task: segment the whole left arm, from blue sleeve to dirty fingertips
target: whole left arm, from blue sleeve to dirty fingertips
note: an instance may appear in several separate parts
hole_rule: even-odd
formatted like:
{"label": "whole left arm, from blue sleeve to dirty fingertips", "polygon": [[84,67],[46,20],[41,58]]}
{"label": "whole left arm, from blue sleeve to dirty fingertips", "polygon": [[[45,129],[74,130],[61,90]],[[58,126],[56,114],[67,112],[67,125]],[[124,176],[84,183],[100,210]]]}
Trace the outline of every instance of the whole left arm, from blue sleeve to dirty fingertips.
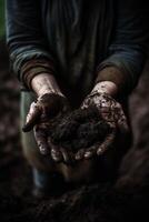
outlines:
{"label": "whole left arm, from blue sleeve to dirty fingertips", "polygon": [[54,79],[53,57],[46,50],[38,0],[7,0],[7,42],[14,73],[38,97],[23,131],[33,129],[41,154],[51,155],[56,162],[69,161],[67,151],[49,144],[49,120],[67,112],[69,104]]}

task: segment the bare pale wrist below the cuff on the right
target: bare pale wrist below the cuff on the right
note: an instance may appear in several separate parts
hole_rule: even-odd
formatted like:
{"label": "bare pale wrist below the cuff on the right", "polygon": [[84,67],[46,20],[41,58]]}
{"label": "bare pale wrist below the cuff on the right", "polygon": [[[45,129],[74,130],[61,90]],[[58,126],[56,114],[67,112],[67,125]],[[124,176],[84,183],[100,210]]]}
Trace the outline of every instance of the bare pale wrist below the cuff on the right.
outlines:
{"label": "bare pale wrist below the cuff on the right", "polygon": [[92,89],[92,92],[93,91],[98,91],[99,93],[107,93],[107,94],[110,94],[111,97],[116,97],[118,94],[118,87],[112,81],[101,81],[95,85],[95,88]]}

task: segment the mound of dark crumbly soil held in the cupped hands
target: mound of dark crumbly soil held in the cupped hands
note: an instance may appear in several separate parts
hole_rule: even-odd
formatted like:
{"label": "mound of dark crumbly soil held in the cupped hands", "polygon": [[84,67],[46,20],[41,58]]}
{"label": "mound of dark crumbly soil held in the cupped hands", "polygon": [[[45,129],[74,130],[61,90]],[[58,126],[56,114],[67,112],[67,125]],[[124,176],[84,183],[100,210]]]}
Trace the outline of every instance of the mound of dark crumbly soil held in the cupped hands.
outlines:
{"label": "mound of dark crumbly soil held in the cupped hands", "polygon": [[110,125],[102,119],[96,107],[78,109],[61,115],[50,123],[49,135],[53,144],[71,149],[100,145],[111,133]]}

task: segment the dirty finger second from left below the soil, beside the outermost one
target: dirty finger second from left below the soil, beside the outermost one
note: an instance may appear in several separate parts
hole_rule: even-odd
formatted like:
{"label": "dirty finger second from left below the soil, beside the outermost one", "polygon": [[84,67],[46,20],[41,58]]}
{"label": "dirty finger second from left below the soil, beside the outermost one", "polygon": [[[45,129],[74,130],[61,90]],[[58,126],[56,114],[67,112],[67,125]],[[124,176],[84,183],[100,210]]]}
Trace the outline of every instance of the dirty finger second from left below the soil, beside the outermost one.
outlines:
{"label": "dirty finger second from left below the soil, beside the outermost one", "polygon": [[63,158],[60,149],[51,142],[50,138],[48,140],[48,143],[51,150],[52,160],[57,163],[62,162]]}

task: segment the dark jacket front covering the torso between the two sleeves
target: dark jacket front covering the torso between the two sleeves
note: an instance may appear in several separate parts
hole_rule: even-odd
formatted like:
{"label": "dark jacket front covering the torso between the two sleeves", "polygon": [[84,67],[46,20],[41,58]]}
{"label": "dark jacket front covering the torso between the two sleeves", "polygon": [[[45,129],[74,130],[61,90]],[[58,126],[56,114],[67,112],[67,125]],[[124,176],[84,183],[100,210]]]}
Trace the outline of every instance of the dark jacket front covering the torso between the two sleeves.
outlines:
{"label": "dark jacket front covering the torso between the two sleeves", "polygon": [[112,7],[106,0],[42,1],[43,31],[67,88],[88,93],[97,65],[106,58]]}

